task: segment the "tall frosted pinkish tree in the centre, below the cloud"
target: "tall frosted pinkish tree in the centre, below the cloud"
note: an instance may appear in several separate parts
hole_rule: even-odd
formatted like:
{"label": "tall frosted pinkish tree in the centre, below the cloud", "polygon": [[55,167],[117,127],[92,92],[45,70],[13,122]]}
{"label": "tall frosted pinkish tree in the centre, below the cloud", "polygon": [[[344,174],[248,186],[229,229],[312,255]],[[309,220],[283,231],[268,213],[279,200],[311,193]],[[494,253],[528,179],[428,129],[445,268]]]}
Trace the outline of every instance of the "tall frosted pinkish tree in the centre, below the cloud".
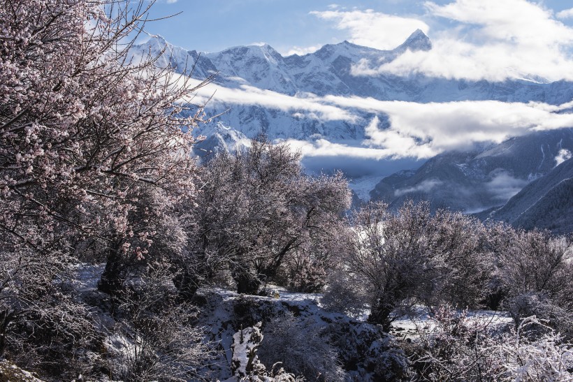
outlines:
{"label": "tall frosted pinkish tree in the centre, below the cloud", "polygon": [[291,256],[324,266],[326,243],[349,207],[342,175],[307,176],[299,154],[266,139],[212,159],[201,182],[195,267],[206,277],[228,269],[239,293],[256,293]]}

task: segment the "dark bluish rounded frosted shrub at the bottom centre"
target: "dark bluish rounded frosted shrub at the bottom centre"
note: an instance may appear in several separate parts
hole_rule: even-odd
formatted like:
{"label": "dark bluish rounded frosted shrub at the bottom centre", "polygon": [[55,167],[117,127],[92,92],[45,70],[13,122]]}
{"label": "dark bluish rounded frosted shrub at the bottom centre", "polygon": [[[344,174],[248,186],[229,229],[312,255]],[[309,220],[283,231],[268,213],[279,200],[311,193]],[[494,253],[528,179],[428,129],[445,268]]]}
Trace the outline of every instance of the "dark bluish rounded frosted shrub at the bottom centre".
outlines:
{"label": "dark bluish rounded frosted shrub at the bottom centre", "polygon": [[311,319],[300,319],[289,311],[273,318],[263,328],[259,359],[265,365],[280,365],[307,381],[344,381],[346,374],[338,352],[324,331]]}

